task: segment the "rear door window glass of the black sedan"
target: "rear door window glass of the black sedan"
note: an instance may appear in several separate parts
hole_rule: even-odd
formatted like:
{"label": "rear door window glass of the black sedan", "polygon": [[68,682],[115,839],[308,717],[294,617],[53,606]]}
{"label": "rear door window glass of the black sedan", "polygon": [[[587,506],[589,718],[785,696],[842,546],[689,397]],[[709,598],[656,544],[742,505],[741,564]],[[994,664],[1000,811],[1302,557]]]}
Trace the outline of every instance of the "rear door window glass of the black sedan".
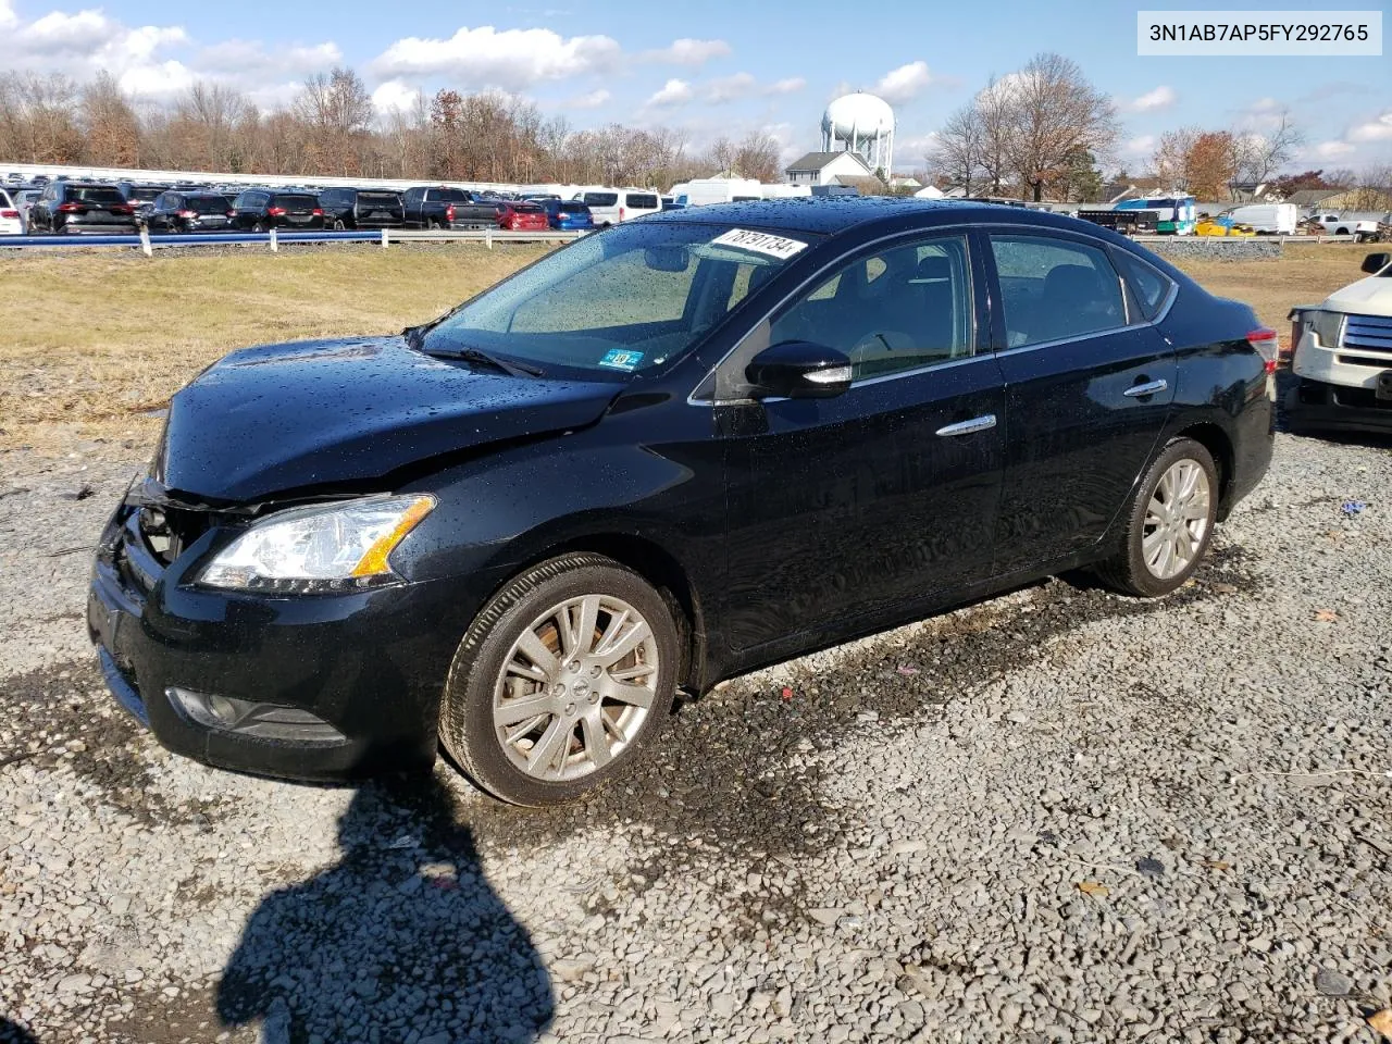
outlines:
{"label": "rear door window glass of the black sedan", "polygon": [[1043,235],[992,235],[1009,348],[1126,326],[1122,285],[1097,246]]}

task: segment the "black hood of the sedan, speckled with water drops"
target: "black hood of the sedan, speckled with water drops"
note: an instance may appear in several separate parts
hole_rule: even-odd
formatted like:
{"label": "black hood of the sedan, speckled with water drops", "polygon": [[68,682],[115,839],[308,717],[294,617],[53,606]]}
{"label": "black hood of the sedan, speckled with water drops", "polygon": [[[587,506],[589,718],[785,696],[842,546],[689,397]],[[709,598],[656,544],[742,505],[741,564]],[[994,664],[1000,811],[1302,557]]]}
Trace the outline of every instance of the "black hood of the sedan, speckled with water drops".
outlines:
{"label": "black hood of the sedan, speckled with water drops", "polygon": [[210,501],[370,482],[438,454],[583,427],[621,388],[480,373],[401,337],[248,348],[170,401],[153,476]]}

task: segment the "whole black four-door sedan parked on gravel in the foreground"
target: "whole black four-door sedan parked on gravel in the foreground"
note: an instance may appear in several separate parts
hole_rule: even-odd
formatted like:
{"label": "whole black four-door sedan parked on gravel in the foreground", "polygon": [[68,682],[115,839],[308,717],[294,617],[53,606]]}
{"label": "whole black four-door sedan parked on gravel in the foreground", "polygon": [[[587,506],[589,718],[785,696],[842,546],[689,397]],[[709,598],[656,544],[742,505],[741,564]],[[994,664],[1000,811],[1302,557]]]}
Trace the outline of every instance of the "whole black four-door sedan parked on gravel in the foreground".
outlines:
{"label": "whole black four-door sedan parked on gravel in the foreground", "polygon": [[1267,470],[1274,345],[1066,217],[651,216],[401,337],[200,373],[88,624],[175,752],[335,780],[438,741],[498,798],[567,800],[678,688],[1063,569],[1175,590]]}

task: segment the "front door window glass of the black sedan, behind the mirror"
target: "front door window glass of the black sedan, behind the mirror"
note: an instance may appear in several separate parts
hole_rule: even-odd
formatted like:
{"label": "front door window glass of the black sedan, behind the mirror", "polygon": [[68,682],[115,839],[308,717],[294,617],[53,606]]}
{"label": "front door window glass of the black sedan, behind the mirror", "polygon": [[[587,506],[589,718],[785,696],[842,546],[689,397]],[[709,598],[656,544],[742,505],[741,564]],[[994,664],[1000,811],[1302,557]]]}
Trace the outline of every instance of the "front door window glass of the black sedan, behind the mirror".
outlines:
{"label": "front door window glass of the black sedan, behind the mirror", "polygon": [[970,355],[966,239],[920,239],[841,266],[774,319],[770,344],[782,341],[845,352],[856,380]]}

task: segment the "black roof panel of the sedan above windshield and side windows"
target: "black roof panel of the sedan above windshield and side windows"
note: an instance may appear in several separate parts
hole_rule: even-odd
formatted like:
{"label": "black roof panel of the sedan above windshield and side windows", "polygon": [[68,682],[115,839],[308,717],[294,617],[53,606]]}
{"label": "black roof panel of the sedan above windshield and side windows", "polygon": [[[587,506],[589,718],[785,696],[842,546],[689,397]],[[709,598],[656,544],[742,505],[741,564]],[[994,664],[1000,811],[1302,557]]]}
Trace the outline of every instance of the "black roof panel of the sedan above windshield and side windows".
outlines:
{"label": "black roof panel of the sedan above windshield and side windows", "polygon": [[915,199],[913,196],[789,196],[749,203],[711,203],[647,214],[643,217],[643,224],[650,221],[700,221],[831,235],[857,226],[895,224],[895,219],[905,221],[906,230],[976,219],[980,221],[1008,220],[1012,224],[1038,224],[1054,228],[1084,227],[1089,235],[1107,234],[1107,230],[1091,223],[1044,210],[955,199]]}

